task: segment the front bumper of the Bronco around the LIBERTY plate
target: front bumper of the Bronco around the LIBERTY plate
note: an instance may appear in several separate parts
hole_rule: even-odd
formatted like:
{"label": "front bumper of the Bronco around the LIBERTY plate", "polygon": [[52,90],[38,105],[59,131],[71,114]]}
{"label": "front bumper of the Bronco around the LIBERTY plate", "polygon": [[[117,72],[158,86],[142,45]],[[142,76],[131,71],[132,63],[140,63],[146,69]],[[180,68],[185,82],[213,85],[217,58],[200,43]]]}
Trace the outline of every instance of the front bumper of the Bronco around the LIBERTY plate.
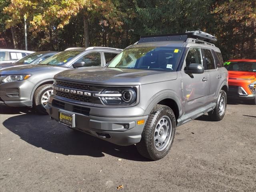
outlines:
{"label": "front bumper of the Bronco around the LIBERTY plate", "polygon": [[[65,109],[61,107],[52,106],[52,103],[48,102],[46,110],[52,119],[59,121],[59,111],[71,112],[71,108],[76,106],[72,103],[65,102]],[[71,108],[70,108],[71,107]],[[78,106],[76,106],[78,107]],[[83,106],[89,108],[90,111],[98,110],[99,114],[102,108],[95,108],[89,106]],[[105,108],[106,110],[106,108]],[[114,109],[109,109],[110,111],[115,111]],[[122,108],[120,110],[125,110]],[[146,120],[148,116],[134,116],[134,117],[115,117],[115,116],[95,116],[89,113],[88,115],[80,114],[77,112],[72,112],[75,114],[75,125],[73,129],[85,132],[92,136],[101,138],[108,142],[121,145],[129,146],[140,142],[141,134],[144,129]],[[110,114],[109,114],[110,115]],[[111,114],[113,115],[113,114]],[[120,116],[120,114],[118,114]],[[132,114],[131,114],[132,116]],[[137,124],[138,120],[144,120],[144,124]],[[124,128],[124,125],[129,124],[129,128]]]}

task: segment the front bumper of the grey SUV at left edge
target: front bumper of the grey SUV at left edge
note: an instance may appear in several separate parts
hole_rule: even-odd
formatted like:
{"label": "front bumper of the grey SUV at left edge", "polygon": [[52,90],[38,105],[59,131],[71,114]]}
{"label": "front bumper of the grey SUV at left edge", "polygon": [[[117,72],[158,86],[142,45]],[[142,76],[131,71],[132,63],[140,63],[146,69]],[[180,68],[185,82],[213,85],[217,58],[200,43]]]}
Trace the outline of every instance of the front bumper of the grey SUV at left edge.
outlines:
{"label": "front bumper of the grey SUV at left edge", "polygon": [[11,107],[32,107],[29,81],[14,81],[0,84],[0,102]]}

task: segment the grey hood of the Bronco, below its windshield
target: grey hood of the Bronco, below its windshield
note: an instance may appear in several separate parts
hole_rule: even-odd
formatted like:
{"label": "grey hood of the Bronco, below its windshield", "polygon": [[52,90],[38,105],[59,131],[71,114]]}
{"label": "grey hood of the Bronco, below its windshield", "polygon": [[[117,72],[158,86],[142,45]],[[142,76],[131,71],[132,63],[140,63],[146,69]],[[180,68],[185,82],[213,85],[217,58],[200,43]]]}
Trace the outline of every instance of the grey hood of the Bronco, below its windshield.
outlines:
{"label": "grey hood of the Bronco, below its windshield", "polygon": [[60,72],[54,78],[88,84],[139,85],[174,80],[177,78],[177,72],[120,68],[84,68]]}

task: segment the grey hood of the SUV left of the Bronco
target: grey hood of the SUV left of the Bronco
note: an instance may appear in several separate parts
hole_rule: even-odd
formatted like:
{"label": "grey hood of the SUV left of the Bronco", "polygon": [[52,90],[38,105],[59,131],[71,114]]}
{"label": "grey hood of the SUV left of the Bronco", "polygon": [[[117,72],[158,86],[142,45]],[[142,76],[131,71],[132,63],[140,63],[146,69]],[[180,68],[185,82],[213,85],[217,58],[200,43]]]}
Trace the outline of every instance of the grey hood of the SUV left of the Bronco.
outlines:
{"label": "grey hood of the SUV left of the Bronco", "polygon": [[0,75],[18,75],[18,74],[36,74],[47,71],[62,71],[67,68],[58,67],[58,66],[48,66],[48,65],[18,65],[9,68],[3,68],[0,70]]}

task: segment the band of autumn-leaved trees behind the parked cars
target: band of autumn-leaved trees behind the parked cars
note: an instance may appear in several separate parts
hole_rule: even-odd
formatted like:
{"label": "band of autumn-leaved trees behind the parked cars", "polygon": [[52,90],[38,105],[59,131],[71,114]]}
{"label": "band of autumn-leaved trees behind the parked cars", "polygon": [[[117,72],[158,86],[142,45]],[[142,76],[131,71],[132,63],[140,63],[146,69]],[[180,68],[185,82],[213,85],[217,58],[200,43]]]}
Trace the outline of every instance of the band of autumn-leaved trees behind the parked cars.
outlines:
{"label": "band of autumn-leaved trees behind the parked cars", "polygon": [[72,46],[125,48],[140,35],[203,30],[216,35],[224,59],[256,58],[252,0],[1,0],[0,36],[30,50]]}

